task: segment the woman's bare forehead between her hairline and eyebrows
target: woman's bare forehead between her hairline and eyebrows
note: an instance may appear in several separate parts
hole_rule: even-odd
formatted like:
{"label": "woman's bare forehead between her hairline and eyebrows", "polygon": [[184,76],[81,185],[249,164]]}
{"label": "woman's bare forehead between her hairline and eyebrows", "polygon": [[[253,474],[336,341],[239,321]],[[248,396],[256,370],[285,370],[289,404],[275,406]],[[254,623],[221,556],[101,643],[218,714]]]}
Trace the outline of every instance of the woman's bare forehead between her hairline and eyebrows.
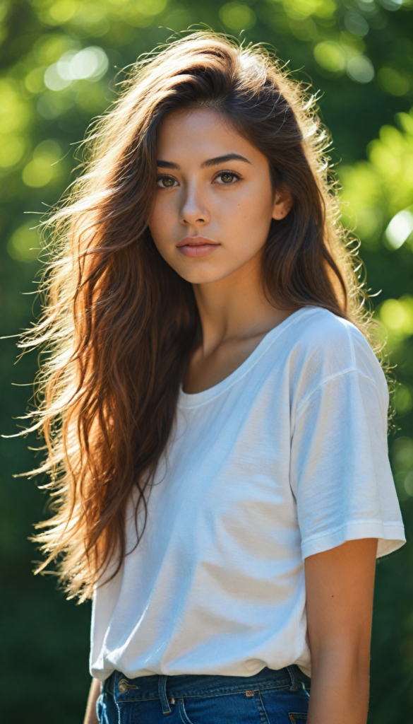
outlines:
{"label": "woman's bare forehead between her hairline and eyebrows", "polygon": [[259,156],[265,158],[214,109],[172,111],[163,119],[158,137],[158,158],[176,161],[179,156],[202,163],[227,153],[239,153],[251,163]]}

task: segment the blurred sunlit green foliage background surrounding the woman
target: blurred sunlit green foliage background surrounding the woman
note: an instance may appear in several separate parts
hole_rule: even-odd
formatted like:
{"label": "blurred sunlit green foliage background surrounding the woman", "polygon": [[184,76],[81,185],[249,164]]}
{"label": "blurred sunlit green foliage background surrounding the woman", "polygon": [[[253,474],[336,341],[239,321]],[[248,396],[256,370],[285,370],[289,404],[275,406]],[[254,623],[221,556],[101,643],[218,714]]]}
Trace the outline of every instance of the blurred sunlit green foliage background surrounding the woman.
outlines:
{"label": "blurred sunlit green foliage background surrounding the woman", "polygon": [[[115,96],[116,74],[171,35],[205,23],[270,43],[297,77],[321,90],[320,111],[343,185],[344,221],[357,227],[367,282],[396,374],[389,441],[410,538],[413,527],[413,0],[0,1],[1,334],[33,319],[40,268],[35,226],[59,198],[90,119]],[[81,52],[83,51],[83,52]],[[118,79],[122,79],[122,72]],[[401,212],[401,213],[400,213]],[[390,227],[388,226],[390,224]],[[35,310],[34,310],[35,311]],[[0,432],[27,407],[35,355],[17,366],[0,343]],[[32,443],[33,444],[33,443]],[[90,609],[66,602],[54,578],[31,574],[27,537],[44,514],[25,439],[1,440],[1,673],[4,721],[75,724],[89,686]],[[378,564],[370,724],[413,710],[412,547]]]}

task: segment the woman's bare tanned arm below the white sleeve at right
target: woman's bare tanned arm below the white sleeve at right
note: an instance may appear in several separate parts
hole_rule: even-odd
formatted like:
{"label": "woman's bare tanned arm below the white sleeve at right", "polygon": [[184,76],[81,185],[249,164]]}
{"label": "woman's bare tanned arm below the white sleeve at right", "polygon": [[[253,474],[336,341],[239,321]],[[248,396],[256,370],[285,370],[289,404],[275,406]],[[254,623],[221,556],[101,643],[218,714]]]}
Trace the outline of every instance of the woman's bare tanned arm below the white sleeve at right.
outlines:
{"label": "woman's bare tanned arm below the white sleeve at right", "polygon": [[366,724],[377,540],[305,560],[311,695],[307,724]]}

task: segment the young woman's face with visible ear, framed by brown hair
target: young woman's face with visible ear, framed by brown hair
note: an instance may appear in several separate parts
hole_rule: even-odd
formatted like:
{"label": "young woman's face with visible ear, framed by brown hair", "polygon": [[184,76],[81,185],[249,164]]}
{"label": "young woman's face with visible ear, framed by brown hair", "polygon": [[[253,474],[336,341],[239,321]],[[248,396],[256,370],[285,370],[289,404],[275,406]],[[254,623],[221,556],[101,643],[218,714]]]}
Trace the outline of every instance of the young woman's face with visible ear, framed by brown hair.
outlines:
{"label": "young woman's face with visible ear, framed by brown hair", "polygon": [[260,255],[271,219],[291,205],[291,193],[274,195],[263,153],[216,111],[164,119],[149,228],[161,256],[188,282],[216,282]]}

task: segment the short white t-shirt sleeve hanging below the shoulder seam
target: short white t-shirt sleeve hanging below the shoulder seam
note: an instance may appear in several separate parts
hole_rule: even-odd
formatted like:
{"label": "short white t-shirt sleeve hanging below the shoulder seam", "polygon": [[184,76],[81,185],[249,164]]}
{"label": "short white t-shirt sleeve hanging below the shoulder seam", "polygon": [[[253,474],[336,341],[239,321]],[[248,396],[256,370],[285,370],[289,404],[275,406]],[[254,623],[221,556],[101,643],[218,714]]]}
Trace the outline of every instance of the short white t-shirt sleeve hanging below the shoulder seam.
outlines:
{"label": "short white t-shirt sleeve hanging below the shoulder seam", "polygon": [[290,479],[303,559],[354,539],[377,538],[378,557],[404,544],[387,407],[384,376],[377,384],[357,369],[323,382],[298,405]]}

